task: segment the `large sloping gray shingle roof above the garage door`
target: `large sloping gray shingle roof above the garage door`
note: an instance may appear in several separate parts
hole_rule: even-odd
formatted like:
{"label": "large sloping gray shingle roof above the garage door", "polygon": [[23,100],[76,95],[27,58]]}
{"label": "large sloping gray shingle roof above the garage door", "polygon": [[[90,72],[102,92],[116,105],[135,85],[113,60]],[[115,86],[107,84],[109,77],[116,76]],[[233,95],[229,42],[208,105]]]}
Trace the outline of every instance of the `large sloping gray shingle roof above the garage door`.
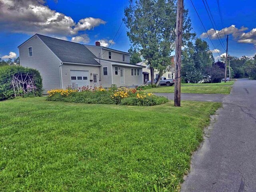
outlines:
{"label": "large sloping gray shingle roof above the garage door", "polygon": [[56,39],[36,34],[56,56],[63,62],[100,65],[88,48],[80,43]]}

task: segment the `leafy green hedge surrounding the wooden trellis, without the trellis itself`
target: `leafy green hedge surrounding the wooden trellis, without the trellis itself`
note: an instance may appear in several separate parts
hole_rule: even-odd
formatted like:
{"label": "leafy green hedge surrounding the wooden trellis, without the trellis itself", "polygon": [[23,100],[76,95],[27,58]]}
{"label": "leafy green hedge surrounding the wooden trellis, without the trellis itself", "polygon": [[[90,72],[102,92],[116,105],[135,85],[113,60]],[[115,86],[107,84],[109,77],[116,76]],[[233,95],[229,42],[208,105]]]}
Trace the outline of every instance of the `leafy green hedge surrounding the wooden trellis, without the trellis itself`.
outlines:
{"label": "leafy green hedge surrounding the wooden trellis, without the trellis itself", "polygon": [[42,96],[42,78],[38,70],[22,66],[0,66],[0,100],[14,98],[12,77],[19,73],[28,73],[30,78],[34,81],[34,86],[36,86],[34,96]]}

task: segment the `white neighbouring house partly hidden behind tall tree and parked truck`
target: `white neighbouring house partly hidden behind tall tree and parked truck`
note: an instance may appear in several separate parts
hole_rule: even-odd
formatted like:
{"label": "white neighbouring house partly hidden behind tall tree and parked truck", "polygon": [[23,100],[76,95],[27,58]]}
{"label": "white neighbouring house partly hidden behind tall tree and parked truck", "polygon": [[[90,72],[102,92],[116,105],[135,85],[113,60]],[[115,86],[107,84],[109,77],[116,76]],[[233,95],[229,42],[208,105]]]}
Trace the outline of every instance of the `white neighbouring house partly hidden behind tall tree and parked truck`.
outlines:
{"label": "white neighbouring house partly hidden behind tall tree and parked truck", "polygon": [[[172,62],[174,61],[174,58],[172,58]],[[147,64],[145,61],[139,62],[136,65],[143,66],[144,68],[142,69],[142,74],[143,74],[143,82],[144,84],[148,81],[151,80],[151,74],[150,74],[150,69],[148,68]],[[165,77],[166,79],[174,79],[174,68],[172,66],[168,66],[166,68],[166,72],[162,75],[162,77]],[[158,78],[158,70],[154,70],[154,78]]]}

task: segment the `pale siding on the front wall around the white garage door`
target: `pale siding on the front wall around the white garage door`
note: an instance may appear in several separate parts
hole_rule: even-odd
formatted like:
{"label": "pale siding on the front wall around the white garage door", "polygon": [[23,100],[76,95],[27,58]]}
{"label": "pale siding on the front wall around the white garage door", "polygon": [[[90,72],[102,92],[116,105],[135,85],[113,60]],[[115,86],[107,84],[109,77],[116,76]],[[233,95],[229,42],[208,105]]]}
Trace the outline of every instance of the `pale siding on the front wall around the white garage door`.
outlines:
{"label": "pale siding on the front wall around the white garage door", "polygon": [[[99,66],[76,65],[76,64],[65,64],[64,63],[62,65],[63,89],[66,89],[69,85],[71,85],[70,71],[72,71],[72,70],[88,71],[88,82],[89,82],[90,86],[95,85],[94,82],[93,82],[93,74],[99,74],[100,73]],[[80,75],[80,76],[82,76],[82,75]],[[90,80],[92,80],[92,82]]]}

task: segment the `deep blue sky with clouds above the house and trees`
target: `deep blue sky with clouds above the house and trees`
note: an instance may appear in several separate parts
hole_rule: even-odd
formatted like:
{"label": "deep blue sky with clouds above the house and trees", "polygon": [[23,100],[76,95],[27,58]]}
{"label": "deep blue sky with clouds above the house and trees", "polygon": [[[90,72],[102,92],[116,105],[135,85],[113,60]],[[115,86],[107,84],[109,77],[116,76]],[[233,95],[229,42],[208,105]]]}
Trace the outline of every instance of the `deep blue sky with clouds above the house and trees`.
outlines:
{"label": "deep blue sky with clouds above the house and trees", "polygon": [[[94,44],[101,40],[102,45],[108,46],[114,38],[124,17],[124,8],[129,5],[128,0],[0,0],[4,6],[0,8],[0,57],[8,58],[10,52],[18,56],[18,48],[22,42],[35,33],[49,34],[56,38],[73,40],[85,44]],[[212,38],[212,42],[219,54],[224,49],[216,38],[210,19],[200,0],[193,0],[196,10],[202,22]],[[230,34],[229,50],[234,56],[253,56],[256,54],[256,1],[220,0],[220,8],[223,15],[223,26],[218,12],[217,0],[208,0],[208,5],[214,17],[218,30],[226,28]],[[196,15],[190,0],[184,0],[185,8],[189,9],[192,20],[193,32],[198,37],[206,40],[210,49],[214,50],[206,34],[202,34],[204,28]],[[10,10],[10,7],[12,9]],[[72,27],[70,27],[72,26]],[[110,48],[127,51],[130,42],[126,36],[125,25],[122,24],[120,31]],[[223,31],[223,30],[222,30]],[[221,32],[220,31],[220,34]],[[223,34],[223,33],[222,33]],[[222,38],[226,44],[225,37]],[[247,42],[249,44],[242,44]],[[5,56],[7,55],[7,56]],[[12,53],[11,56],[14,56]],[[218,53],[214,53],[217,57]]]}

